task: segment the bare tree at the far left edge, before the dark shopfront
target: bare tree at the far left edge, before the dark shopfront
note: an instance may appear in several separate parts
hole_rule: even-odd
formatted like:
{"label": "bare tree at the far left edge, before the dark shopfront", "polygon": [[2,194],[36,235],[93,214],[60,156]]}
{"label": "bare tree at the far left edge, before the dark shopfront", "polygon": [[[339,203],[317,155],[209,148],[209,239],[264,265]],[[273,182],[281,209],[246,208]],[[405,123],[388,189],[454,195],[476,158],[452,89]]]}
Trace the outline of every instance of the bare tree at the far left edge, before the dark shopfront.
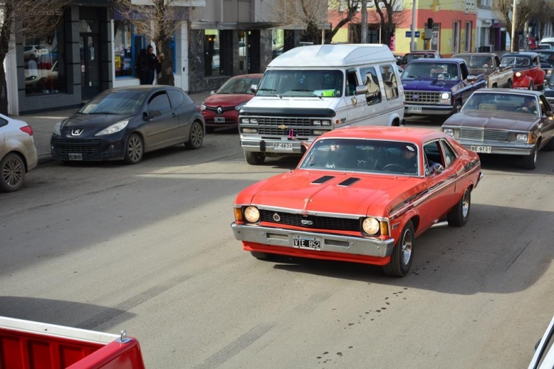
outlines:
{"label": "bare tree at the far left edge, before the dark shopfront", "polygon": [[0,2],[0,113],[8,114],[4,60],[18,37],[53,37],[69,0],[4,0]]}

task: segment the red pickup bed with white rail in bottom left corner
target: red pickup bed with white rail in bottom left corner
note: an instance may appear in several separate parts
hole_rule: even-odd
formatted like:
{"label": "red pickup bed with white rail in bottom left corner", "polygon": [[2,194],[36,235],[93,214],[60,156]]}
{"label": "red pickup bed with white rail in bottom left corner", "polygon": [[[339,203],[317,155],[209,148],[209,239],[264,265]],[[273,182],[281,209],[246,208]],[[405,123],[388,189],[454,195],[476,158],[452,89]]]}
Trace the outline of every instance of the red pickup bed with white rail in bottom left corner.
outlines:
{"label": "red pickup bed with white rail in bottom left corner", "polygon": [[144,369],[139,341],[0,316],[0,368]]}

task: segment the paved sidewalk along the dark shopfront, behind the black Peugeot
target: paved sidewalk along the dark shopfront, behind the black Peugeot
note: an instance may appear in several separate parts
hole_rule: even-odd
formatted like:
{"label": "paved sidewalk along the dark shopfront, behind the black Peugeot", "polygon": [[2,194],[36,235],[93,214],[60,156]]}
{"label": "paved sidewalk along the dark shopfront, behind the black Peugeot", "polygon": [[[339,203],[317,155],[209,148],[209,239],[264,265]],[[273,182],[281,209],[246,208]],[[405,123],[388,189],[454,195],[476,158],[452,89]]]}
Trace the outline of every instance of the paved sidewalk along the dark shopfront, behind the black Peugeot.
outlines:
{"label": "paved sidewalk along the dark shopfront, behind the black Peugeot", "polygon": [[[189,94],[195,104],[200,104],[209,95],[210,91]],[[50,155],[50,138],[55,124],[66,119],[78,110],[79,108],[43,111],[42,113],[24,114],[13,117],[15,119],[24,120],[33,129],[33,138],[35,140],[35,146],[37,146],[39,163],[52,160]]]}

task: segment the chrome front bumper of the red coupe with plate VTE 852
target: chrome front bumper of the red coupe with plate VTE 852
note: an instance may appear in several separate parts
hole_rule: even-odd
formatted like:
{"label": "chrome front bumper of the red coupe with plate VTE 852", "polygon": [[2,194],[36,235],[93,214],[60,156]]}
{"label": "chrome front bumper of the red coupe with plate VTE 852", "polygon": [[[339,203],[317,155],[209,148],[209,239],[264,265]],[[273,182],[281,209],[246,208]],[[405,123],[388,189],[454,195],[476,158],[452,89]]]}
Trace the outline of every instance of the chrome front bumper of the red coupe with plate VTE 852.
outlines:
{"label": "chrome front bumper of the red coupe with plate VTE 852", "polygon": [[295,231],[293,229],[260,227],[258,225],[237,225],[234,222],[231,223],[231,229],[233,229],[235,238],[240,241],[289,247],[292,249],[298,249],[298,247],[294,246],[293,236],[319,238],[321,240],[321,249],[313,250],[314,252],[339,252],[341,254],[384,258],[391,256],[394,247],[393,238],[379,240],[377,238],[340,236],[336,234]]}

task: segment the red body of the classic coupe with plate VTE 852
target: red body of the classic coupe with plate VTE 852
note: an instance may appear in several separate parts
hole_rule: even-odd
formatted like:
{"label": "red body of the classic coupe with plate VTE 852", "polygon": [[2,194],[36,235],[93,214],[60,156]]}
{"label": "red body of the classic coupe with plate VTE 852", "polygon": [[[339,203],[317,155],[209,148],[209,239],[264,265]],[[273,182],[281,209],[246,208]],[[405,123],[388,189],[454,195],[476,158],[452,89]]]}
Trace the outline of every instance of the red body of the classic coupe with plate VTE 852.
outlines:
{"label": "red body of the classic coupe with plate VTE 852", "polygon": [[[310,160],[316,155],[312,151],[317,150],[318,145],[323,147],[319,140],[346,142],[350,139],[361,142],[357,148],[364,142],[409,143],[420,153],[418,173],[388,173],[375,167],[371,170],[310,167]],[[445,158],[444,153],[438,153],[443,154],[442,158],[431,158],[432,149],[440,151],[443,145],[449,146],[445,151],[455,152],[454,160],[452,155]],[[358,162],[365,164],[366,160]],[[431,173],[430,162],[442,164],[443,168]],[[404,228],[409,228],[409,223],[413,224],[414,237],[447,215],[449,223],[463,225],[469,216],[469,193],[481,176],[479,156],[441,132],[400,127],[348,127],[321,135],[296,169],[262,180],[240,192],[235,200],[235,222],[231,228],[235,238],[242,240],[244,250],[254,252],[255,257],[264,256],[258,258],[283,254],[388,265],[394,257],[393,247],[399,247],[398,240]],[[459,221],[452,214],[464,198],[467,211]],[[247,222],[244,211],[249,206],[260,210],[259,222]],[[356,227],[357,222],[361,225],[367,217],[379,220],[382,231],[370,236],[361,226]],[[329,223],[317,223],[328,219],[331,219]],[[350,222],[349,229],[335,227],[343,221]],[[330,227],[318,228],[321,224]],[[316,249],[296,247],[293,237],[311,237],[321,240],[321,245],[318,243]],[[412,246],[413,240],[410,252]],[[406,263],[404,267],[409,269],[411,259]],[[404,272],[392,275],[403,276]]]}

